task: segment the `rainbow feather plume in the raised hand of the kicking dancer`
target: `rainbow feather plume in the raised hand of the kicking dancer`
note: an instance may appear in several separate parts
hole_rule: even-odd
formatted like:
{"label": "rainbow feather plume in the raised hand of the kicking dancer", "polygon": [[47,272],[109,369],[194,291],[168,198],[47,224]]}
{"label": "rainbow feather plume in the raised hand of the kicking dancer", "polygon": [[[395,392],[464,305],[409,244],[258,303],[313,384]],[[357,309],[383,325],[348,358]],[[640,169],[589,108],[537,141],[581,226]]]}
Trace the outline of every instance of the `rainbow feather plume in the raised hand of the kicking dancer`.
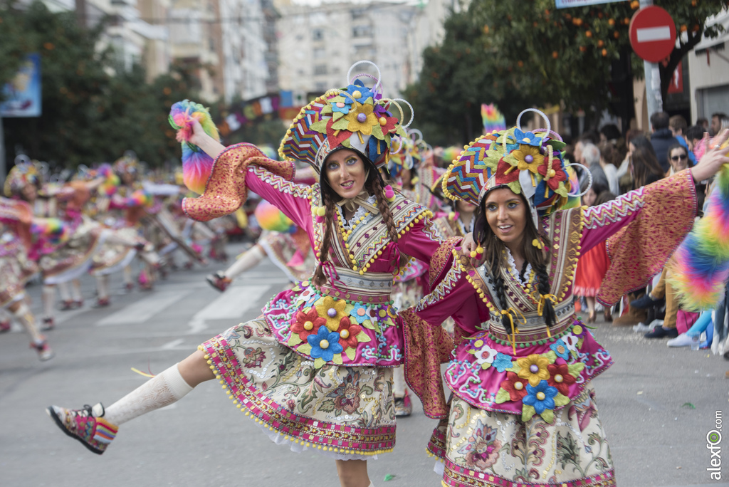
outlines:
{"label": "rainbow feather plume in the raised hand of the kicking dancer", "polygon": [[201,195],[205,191],[213,159],[200,147],[190,144],[192,121],[198,120],[205,133],[215,140],[220,140],[218,129],[210,117],[208,109],[190,100],[178,101],[174,104],[170,109],[168,120],[172,128],[177,130],[177,141],[182,143],[182,180],[190,190]]}

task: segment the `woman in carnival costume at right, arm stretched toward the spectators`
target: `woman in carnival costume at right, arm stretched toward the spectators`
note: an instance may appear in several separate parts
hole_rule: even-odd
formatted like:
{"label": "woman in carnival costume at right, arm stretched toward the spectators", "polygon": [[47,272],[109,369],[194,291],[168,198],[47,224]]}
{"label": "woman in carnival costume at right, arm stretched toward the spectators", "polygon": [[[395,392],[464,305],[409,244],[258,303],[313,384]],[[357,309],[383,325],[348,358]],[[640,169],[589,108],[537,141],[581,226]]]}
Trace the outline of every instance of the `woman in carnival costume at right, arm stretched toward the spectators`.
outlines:
{"label": "woman in carnival costume at right, arm stretched toward the spectators", "polygon": [[492,133],[444,178],[446,195],[479,205],[475,243],[444,244],[432,293],[402,313],[406,329],[451,315],[457,324],[448,405],[438,361],[423,353],[405,362],[425,412],[442,418],[428,450],[443,461],[444,486],[615,485],[590,384],[612,357],[574,314],[577,258],[612,235],[599,299],[644,286],[693,225],[694,180],[729,163],[712,149],[670,179],[560,211],[572,190],[563,148],[548,120],[546,130]]}

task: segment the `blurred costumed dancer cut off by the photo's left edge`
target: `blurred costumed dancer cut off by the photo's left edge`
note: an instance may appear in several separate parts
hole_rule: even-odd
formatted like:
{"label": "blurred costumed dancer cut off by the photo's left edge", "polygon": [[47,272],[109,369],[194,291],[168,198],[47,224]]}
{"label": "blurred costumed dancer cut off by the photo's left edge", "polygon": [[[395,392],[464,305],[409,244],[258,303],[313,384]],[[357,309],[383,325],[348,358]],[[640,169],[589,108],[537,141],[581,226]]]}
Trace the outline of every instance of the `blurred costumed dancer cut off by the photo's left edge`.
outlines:
{"label": "blurred costumed dancer cut off by the photo's left edge", "polygon": [[[54,238],[61,239],[64,230],[58,220],[34,219],[28,203],[0,198],[0,308],[7,309],[23,325],[31,335],[31,348],[43,361],[52,359],[53,351],[38,331],[25,287],[38,272],[31,257],[47,248]],[[3,331],[9,331],[9,327]]]}

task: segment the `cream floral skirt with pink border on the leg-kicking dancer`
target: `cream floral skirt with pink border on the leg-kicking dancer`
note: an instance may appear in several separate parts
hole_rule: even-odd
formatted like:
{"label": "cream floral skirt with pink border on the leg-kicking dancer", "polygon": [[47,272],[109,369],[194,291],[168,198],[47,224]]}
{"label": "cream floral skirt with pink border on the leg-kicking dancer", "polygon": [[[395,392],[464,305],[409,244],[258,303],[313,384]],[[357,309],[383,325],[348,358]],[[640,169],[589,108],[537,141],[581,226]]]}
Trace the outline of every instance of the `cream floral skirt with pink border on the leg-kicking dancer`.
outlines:
{"label": "cream floral skirt with pink border on the leg-kicking dancer", "polygon": [[314,367],[278,343],[262,317],[199,348],[236,407],[276,443],[336,459],[367,459],[394,448],[391,368]]}

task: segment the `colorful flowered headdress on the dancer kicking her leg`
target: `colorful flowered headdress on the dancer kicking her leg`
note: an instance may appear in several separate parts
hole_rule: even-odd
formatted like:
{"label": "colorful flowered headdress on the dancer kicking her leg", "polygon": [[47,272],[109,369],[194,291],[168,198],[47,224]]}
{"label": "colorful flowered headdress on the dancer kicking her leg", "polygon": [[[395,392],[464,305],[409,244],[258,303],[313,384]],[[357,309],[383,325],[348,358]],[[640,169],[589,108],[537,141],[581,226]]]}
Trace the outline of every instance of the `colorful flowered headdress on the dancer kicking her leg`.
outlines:
{"label": "colorful flowered headdress on the dancer kicking her leg", "polygon": [[[362,63],[374,66],[378,76],[351,77],[354,67]],[[364,86],[360,77],[374,79],[374,87]],[[301,109],[281,141],[278,149],[281,158],[304,161],[319,171],[327,155],[346,147],[362,152],[378,168],[386,165],[391,139],[395,135],[406,136],[404,128],[413,121],[413,109],[402,98],[383,98],[380,78],[380,70],[371,61],[352,65],[347,72],[347,87],[329,90]],[[405,116],[400,101],[410,107],[407,125],[401,125]]]}

